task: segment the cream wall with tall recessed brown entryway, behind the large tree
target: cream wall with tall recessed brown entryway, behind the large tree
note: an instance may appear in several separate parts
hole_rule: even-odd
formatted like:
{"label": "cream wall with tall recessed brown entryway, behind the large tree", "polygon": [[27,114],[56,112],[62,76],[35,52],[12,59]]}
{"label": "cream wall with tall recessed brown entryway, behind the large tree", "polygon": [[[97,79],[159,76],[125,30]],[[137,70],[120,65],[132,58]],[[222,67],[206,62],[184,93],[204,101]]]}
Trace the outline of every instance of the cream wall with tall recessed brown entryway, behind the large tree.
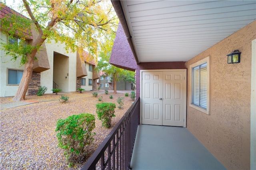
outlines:
{"label": "cream wall with tall recessed brown entryway, behind the large tree", "polygon": [[45,45],[50,69],[41,73],[41,86],[52,93],[54,81],[63,92],[76,91],[76,53],[68,53],[64,44],[54,41]]}

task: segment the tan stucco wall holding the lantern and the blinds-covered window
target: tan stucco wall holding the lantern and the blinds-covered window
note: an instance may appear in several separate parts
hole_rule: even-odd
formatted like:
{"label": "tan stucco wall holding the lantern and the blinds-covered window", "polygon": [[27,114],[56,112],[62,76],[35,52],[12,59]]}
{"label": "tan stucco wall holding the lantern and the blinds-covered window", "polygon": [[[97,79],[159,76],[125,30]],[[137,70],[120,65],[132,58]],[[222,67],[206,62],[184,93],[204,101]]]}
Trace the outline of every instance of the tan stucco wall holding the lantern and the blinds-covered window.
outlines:
{"label": "tan stucco wall holding the lantern and the blinds-covered window", "polygon": [[[200,53],[191,64],[210,56],[210,115],[189,107],[187,128],[227,169],[250,169],[250,89],[252,40],[256,21]],[[235,49],[241,62],[227,64]],[[188,87],[190,87],[188,71]]]}

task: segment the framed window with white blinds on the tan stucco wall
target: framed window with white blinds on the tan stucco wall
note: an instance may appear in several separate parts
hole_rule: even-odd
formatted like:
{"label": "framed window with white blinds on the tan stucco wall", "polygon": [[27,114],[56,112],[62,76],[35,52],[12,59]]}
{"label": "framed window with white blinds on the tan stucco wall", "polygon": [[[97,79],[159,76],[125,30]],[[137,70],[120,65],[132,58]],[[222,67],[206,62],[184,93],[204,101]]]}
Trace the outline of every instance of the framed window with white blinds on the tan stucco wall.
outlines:
{"label": "framed window with white blinds on the tan stucco wall", "polygon": [[206,57],[190,65],[190,107],[210,114],[210,59]]}

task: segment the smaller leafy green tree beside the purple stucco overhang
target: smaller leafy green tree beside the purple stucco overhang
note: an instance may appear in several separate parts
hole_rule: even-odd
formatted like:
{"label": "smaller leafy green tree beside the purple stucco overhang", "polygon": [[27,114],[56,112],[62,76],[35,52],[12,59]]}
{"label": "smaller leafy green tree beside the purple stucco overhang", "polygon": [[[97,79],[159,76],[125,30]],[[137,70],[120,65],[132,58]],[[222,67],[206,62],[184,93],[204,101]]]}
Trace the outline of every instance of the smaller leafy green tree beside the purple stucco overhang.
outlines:
{"label": "smaller leafy green tree beside the purple stucco overhang", "polygon": [[117,81],[124,80],[135,83],[135,72],[118,68],[108,62],[110,59],[115,36],[115,32],[112,32],[112,34],[109,34],[108,37],[105,38],[104,44],[102,45],[101,51],[99,53],[98,65],[96,67],[98,71],[104,71],[108,75],[111,75],[114,94],[116,94]]}

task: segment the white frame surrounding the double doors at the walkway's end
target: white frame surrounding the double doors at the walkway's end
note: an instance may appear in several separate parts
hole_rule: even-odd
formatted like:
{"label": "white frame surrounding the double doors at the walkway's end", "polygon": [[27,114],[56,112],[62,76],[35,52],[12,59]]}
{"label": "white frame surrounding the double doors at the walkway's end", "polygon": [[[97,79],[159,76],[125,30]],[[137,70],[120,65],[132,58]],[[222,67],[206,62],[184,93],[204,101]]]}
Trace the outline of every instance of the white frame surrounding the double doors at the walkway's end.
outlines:
{"label": "white frame surrounding the double doors at the walkway's end", "polygon": [[151,71],[184,71],[185,83],[184,83],[184,123],[183,127],[186,127],[187,121],[187,69],[146,69],[140,70],[140,125],[142,124],[142,72]]}

